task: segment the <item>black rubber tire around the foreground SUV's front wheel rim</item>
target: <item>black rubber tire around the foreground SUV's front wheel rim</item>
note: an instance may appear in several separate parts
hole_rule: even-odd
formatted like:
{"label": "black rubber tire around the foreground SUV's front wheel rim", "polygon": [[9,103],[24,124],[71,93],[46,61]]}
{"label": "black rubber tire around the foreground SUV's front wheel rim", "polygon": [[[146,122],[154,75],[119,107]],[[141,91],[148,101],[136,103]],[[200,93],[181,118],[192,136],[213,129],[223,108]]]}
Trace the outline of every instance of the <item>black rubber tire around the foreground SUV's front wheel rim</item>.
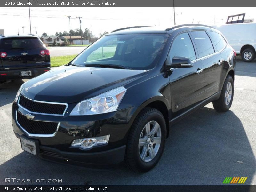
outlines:
{"label": "black rubber tire around the foreground SUV's front wheel rim", "polygon": [[[156,121],[160,125],[161,142],[160,142],[160,147],[158,149],[158,152],[156,153],[156,156],[152,158],[151,161],[145,162],[140,157],[138,145],[139,145],[139,140],[145,125],[151,121]],[[144,108],[140,112],[140,114],[136,117],[130,129],[127,146],[126,146],[124,164],[135,172],[149,171],[160,160],[164,151],[165,140],[166,140],[166,124],[165,124],[164,116],[159,110],[155,108],[149,108],[149,107]],[[153,148],[153,145],[152,145],[152,148]]]}

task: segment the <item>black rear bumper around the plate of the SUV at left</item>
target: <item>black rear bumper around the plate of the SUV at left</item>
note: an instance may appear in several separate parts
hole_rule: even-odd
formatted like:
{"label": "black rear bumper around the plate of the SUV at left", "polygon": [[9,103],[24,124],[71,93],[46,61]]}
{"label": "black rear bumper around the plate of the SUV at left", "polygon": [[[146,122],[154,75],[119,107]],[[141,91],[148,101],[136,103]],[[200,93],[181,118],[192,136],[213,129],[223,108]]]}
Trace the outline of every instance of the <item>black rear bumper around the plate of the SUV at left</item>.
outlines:
{"label": "black rear bumper around the plate of the SUV at left", "polygon": [[[6,75],[0,75],[0,81],[4,80],[10,80],[10,79],[21,79],[21,78],[31,78],[39,76],[46,71],[49,71],[50,67],[42,67],[42,68],[23,68],[23,69],[15,69],[15,70],[5,70],[0,71],[0,74],[6,74]],[[21,76],[21,71],[31,71],[32,76]]]}

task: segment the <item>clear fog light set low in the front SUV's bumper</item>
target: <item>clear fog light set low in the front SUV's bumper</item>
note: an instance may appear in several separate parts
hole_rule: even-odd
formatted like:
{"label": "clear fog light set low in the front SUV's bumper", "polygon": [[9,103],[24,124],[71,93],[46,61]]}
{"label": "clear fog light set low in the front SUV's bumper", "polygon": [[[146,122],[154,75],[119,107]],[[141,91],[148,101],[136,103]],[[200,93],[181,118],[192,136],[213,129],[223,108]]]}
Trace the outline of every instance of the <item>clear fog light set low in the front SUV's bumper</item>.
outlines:
{"label": "clear fog light set low in the front SUV's bumper", "polygon": [[71,147],[79,147],[82,149],[90,149],[94,146],[105,145],[108,143],[110,135],[101,137],[83,138],[73,140]]}

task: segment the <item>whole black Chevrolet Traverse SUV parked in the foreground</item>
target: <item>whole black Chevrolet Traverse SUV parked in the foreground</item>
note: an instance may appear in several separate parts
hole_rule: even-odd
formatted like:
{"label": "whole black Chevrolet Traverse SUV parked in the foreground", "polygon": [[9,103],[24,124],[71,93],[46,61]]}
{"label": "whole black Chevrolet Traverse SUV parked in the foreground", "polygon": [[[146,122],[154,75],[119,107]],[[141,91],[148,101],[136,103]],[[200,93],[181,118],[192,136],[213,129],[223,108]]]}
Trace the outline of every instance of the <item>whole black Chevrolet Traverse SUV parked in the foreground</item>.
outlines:
{"label": "whole black Chevrolet Traverse SUV parked in the foreground", "polygon": [[70,63],[24,83],[13,130],[25,151],[65,164],[146,172],[172,124],[209,102],[227,111],[235,53],[204,25],[115,30]]}

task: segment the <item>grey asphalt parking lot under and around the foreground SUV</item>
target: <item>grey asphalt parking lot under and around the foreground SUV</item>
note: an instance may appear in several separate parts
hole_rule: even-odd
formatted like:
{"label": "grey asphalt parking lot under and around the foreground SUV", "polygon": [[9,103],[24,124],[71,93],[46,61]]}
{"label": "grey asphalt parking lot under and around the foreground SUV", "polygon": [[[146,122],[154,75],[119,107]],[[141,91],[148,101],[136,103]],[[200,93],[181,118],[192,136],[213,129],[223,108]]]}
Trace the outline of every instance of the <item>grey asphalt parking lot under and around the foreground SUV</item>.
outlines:
{"label": "grey asphalt parking lot under and around the foreground SUV", "polygon": [[[4,178],[62,179],[63,185],[221,185],[225,177],[248,177],[256,185],[256,61],[237,59],[235,95],[226,113],[212,103],[171,129],[164,154],[144,174],[125,167],[90,170],[43,161],[24,152],[12,131],[11,107],[22,80],[0,85],[0,185]],[[113,157],[115,158],[115,157]]]}

